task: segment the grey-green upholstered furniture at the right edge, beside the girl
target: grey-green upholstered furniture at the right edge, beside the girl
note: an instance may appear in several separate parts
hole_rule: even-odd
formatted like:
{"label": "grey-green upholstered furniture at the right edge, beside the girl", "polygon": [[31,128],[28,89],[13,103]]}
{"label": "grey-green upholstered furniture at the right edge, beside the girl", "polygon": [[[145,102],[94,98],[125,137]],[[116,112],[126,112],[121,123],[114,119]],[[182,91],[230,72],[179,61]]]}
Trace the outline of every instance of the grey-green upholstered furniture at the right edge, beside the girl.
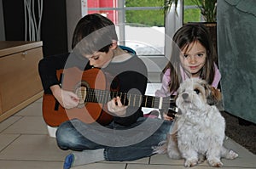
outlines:
{"label": "grey-green upholstered furniture at the right edge, beside the girl", "polygon": [[217,23],[224,110],[256,123],[256,1],[218,0]]}

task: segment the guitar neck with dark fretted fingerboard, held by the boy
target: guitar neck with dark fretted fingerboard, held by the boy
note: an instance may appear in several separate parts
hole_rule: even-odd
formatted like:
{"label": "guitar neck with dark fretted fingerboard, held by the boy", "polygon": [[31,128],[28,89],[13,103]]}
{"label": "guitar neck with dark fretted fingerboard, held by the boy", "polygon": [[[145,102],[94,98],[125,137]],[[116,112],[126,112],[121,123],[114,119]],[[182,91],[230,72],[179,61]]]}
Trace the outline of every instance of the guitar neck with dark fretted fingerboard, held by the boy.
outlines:
{"label": "guitar neck with dark fretted fingerboard, held by the boy", "polygon": [[147,107],[155,109],[168,109],[175,104],[174,96],[154,97],[138,94],[119,93],[106,90],[88,88],[84,102],[107,104],[109,100],[119,96],[122,103],[132,107]]}

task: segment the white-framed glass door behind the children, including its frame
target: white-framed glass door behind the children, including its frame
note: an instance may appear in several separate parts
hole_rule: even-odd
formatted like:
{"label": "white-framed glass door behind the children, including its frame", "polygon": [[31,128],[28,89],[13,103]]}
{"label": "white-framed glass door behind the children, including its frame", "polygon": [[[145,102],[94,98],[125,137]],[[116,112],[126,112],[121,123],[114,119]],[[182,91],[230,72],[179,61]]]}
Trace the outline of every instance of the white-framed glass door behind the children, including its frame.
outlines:
{"label": "white-framed glass door behind the children, including its frame", "polygon": [[[148,68],[148,82],[160,82],[161,71],[170,57],[168,45],[165,45],[168,44],[166,39],[170,39],[172,32],[182,22],[181,20],[178,24],[173,24],[172,19],[166,22],[162,8],[164,0],[83,0],[83,2],[85,3],[82,8],[83,15],[100,13],[113,20],[117,26],[119,44],[133,48],[143,59]],[[182,1],[180,2],[179,8],[183,8]],[[182,15],[176,20],[180,20],[181,17]]]}

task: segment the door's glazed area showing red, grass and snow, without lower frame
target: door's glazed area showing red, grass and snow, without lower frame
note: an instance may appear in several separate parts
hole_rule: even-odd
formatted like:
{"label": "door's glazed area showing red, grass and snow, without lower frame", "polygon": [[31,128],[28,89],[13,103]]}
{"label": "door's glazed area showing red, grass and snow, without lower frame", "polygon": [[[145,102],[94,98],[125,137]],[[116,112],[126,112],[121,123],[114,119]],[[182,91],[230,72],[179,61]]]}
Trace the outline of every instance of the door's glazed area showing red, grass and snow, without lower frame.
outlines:
{"label": "door's glazed area showing red, grass and snow, without lower frame", "polygon": [[85,14],[100,13],[117,25],[119,43],[138,55],[164,55],[165,16],[163,1],[95,0],[87,1]]}

